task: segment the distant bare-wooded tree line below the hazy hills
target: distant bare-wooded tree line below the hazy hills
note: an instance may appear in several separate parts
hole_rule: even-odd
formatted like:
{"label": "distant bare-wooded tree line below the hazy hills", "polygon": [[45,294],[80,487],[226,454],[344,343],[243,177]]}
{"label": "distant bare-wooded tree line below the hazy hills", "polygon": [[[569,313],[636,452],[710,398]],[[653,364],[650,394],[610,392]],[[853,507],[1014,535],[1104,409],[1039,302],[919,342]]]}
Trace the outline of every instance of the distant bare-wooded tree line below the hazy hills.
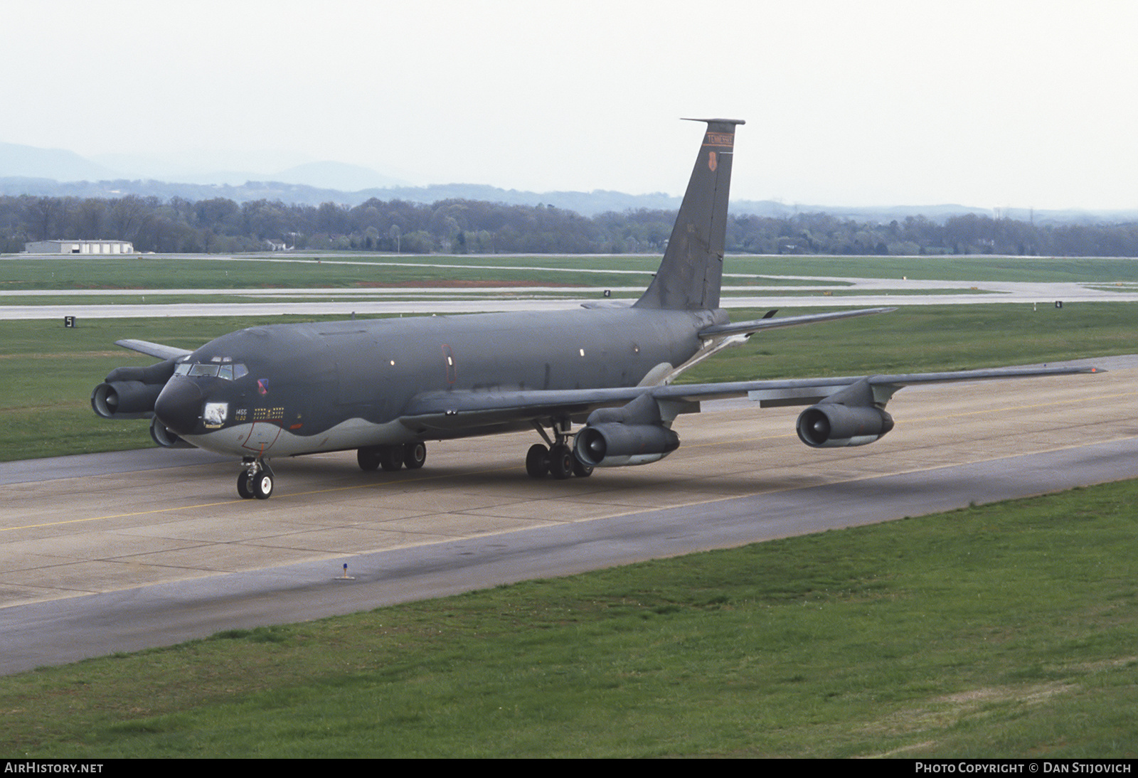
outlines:
{"label": "distant bare-wooded tree line below the hazy hills", "polygon": [[[280,200],[191,201],[179,197],[0,197],[0,251],[32,240],[129,240],[137,251],[297,249],[407,254],[660,253],[675,212],[626,210],[592,218],[553,206],[475,200],[421,205],[370,199],[354,207]],[[1138,256],[1138,223],[1032,224],[965,214],[888,224],[828,214],[731,216],[727,250],[741,254],[1006,254]]]}

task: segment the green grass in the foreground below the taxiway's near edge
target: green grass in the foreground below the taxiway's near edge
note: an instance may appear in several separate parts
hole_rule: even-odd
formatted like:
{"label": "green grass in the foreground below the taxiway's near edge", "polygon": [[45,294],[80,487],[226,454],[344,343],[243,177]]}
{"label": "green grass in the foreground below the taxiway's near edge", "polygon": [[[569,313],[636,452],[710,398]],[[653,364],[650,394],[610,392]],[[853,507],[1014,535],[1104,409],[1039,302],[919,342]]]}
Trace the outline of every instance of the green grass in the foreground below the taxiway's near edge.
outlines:
{"label": "green grass in the foreground below the taxiway's near edge", "polygon": [[1138,754],[1138,483],[0,678],[0,754]]}

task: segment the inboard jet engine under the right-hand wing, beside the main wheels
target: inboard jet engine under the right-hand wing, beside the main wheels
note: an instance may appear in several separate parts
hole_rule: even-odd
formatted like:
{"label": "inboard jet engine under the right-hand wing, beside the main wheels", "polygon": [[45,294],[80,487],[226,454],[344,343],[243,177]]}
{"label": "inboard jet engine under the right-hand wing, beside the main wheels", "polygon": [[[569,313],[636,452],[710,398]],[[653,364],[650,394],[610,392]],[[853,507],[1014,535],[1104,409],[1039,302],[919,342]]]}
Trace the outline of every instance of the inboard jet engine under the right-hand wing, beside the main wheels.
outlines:
{"label": "inboard jet engine under the right-hand wing, beside the main wheels", "polygon": [[588,415],[574,440],[577,458],[592,467],[620,467],[662,460],[679,448],[679,436],[660,416],[660,406],[641,395],[621,408]]}

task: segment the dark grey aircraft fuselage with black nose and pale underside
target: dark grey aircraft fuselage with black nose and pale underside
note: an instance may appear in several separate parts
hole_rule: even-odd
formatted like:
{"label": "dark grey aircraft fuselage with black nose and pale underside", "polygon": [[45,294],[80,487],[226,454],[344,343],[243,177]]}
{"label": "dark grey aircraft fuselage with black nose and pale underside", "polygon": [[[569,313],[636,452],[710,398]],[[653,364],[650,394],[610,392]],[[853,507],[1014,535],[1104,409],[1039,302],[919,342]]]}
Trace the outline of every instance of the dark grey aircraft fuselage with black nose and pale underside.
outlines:
{"label": "dark grey aircraft fuselage with black nose and pale underside", "polygon": [[175,374],[157,409],[193,445],[242,456],[501,432],[415,429],[406,412],[427,392],[634,387],[658,365],[686,362],[699,330],[726,320],[630,307],[254,326],[182,361],[241,365],[242,375]]}

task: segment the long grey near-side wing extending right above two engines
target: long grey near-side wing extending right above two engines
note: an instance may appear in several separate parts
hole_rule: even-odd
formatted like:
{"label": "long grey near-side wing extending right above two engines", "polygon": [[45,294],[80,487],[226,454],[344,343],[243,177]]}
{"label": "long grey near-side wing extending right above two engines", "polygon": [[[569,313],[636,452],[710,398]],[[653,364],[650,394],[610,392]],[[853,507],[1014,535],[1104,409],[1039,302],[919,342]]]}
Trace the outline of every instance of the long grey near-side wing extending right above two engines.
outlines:
{"label": "long grey near-side wing extending right above two engines", "polygon": [[897,390],[918,383],[953,383],[1003,379],[1102,373],[1096,367],[999,367],[943,373],[894,373],[838,378],[687,383],[615,389],[509,391],[431,391],[415,397],[402,422],[417,429],[460,430],[559,416],[582,416],[596,408],[625,405],[642,395],[673,403],[678,412],[698,411],[700,400],[747,397],[760,407],[813,405],[859,381],[867,381],[874,400],[884,405]]}

